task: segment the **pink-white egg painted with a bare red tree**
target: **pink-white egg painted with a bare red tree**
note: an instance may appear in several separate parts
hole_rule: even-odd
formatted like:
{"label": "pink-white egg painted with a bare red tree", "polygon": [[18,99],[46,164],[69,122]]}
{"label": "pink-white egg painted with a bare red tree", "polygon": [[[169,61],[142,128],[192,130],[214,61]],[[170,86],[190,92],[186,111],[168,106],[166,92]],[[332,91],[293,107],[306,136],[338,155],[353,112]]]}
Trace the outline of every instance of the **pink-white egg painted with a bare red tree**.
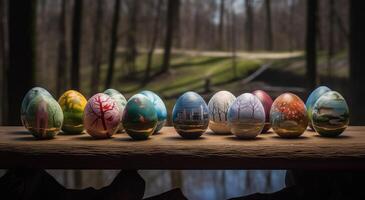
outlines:
{"label": "pink-white egg painted with a bare red tree", "polygon": [[84,127],[94,138],[109,138],[117,132],[120,117],[117,102],[104,93],[97,93],[87,101]]}

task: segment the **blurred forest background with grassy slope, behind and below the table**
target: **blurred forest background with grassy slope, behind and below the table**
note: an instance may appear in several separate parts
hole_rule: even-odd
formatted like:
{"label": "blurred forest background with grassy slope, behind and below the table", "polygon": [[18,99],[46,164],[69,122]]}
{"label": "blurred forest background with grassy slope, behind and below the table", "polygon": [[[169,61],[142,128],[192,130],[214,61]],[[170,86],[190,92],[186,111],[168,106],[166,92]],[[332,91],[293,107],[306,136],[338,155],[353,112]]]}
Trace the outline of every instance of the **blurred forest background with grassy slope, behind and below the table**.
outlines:
{"label": "blurred forest background with grassy slope, behind and below the table", "polygon": [[[306,100],[318,85],[343,94],[364,124],[365,8],[356,0],[1,0],[0,123],[19,125],[33,86],[57,99],[107,88],[159,94],[169,113],[194,90],[254,89]],[[170,123],[169,123],[170,124]],[[51,170],[69,188],[100,188],[117,171]],[[285,171],[141,171],[146,196],[181,187],[224,199],[284,187]]]}

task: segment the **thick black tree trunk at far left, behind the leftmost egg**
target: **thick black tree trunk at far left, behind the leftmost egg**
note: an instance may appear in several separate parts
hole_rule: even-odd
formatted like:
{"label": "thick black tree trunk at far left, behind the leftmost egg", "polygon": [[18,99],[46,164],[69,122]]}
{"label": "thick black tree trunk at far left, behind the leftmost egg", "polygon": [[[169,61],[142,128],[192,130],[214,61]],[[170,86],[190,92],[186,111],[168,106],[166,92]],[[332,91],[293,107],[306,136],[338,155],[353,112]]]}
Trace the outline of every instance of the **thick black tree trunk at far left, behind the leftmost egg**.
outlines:
{"label": "thick black tree trunk at far left, behind the leftmost egg", "polygon": [[[36,1],[8,1],[9,67],[7,69],[8,125],[20,125],[19,108],[35,84]],[[21,5],[21,6],[19,6]]]}

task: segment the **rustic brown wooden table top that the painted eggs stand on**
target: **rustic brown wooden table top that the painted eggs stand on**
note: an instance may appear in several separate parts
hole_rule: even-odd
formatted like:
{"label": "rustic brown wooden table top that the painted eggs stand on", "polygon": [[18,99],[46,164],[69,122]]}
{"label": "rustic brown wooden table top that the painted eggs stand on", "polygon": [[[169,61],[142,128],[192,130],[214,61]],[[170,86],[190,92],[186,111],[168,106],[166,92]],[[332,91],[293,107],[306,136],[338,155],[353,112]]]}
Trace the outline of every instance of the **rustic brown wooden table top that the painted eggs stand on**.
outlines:
{"label": "rustic brown wooden table top that the painted eggs stand on", "polygon": [[173,127],[145,141],[125,133],[96,140],[59,134],[36,140],[23,127],[0,127],[0,168],[46,169],[365,169],[365,127],[349,127],[338,138],[306,131],[298,139],[275,133],[254,140],[208,131],[181,138]]}

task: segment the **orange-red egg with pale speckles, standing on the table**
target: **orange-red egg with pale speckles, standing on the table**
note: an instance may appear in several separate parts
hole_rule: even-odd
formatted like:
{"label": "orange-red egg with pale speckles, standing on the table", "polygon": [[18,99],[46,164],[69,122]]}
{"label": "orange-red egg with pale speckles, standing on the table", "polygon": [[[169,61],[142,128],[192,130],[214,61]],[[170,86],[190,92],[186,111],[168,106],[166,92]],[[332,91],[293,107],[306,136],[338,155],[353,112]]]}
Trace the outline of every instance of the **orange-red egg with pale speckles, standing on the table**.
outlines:
{"label": "orange-red egg with pale speckles, standing on the table", "polygon": [[304,102],[295,94],[284,93],[275,99],[270,110],[273,130],[285,138],[299,137],[308,126]]}

